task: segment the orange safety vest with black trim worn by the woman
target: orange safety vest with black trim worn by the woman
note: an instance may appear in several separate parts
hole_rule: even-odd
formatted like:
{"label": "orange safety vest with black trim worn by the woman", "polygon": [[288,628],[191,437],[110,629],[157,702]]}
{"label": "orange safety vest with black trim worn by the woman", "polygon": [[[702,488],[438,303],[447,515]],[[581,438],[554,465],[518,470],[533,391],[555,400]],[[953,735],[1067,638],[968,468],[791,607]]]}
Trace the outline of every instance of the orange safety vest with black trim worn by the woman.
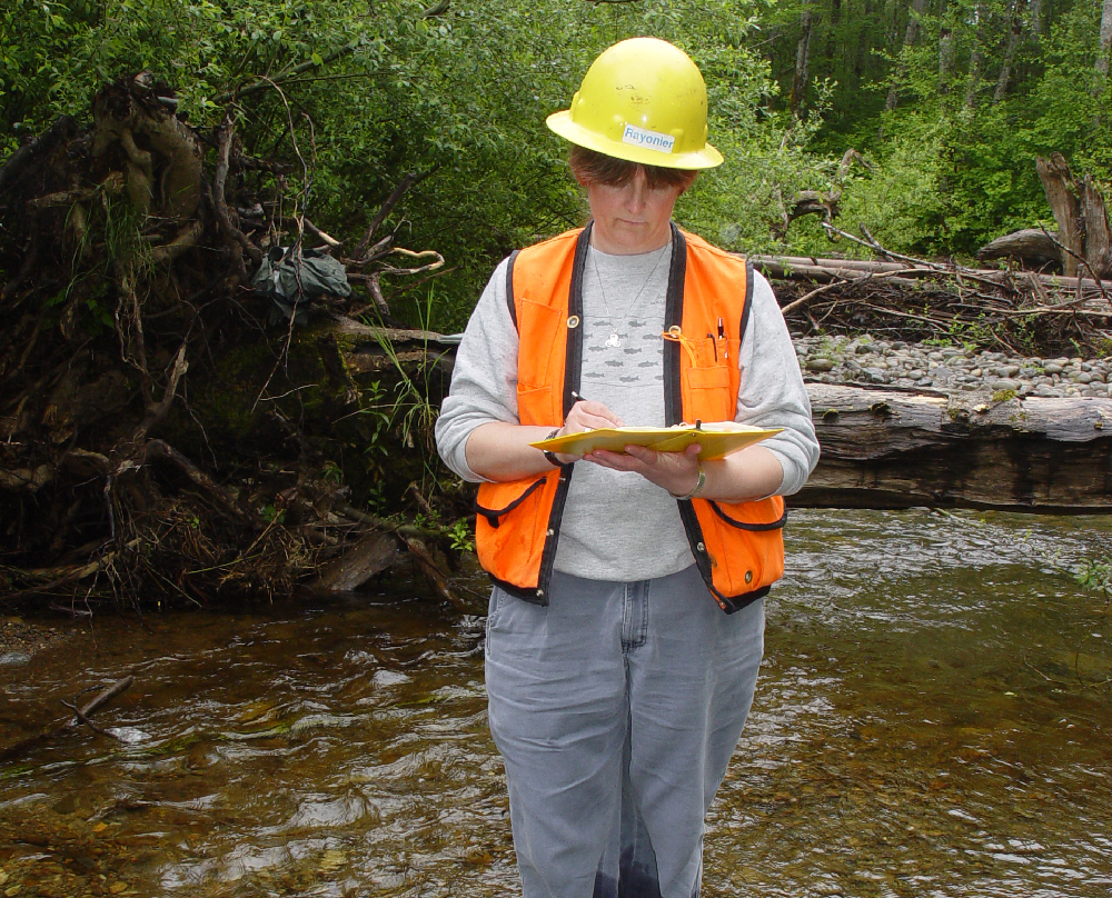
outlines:
{"label": "orange safety vest with black trim worn by the woman", "polygon": [[[560,427],[577,401],[583,359],[583,269],[590,225],[515,252],[506,280],[519,338],[517,409],[523,425]],[[732,421],[753,268],[672,228],[664,346],[665,423]],[[547,605],[560,518],[575,466],[483,483],[475,543],[492,579]],[[768,592],[784,573],[780,496],[752,502],[677,500],[692,555],[727,613]]]}

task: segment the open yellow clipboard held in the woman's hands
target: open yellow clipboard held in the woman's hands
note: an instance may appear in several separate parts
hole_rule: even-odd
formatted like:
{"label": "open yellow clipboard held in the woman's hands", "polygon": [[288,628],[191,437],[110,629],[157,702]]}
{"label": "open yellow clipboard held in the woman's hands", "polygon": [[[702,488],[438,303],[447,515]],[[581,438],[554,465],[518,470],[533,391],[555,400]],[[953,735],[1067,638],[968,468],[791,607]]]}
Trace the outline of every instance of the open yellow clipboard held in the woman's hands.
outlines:
{"label": "open yellow clipboard held in the woman's hands", "polygon": [[770,430],[759,427],[747,427],[732,421],[722,423],[694,425],[683,427],[608,427],[598,430],[584,430],[582,433],[568,433],[564,437],[553,437],[550,440],[532,442],[537,449],[549,452],[560,452],[569,456],[585,456],[596,449],[610,452],[625,452],[627,446],[645,446],[657,452],[682,452],[692,443],[703,447],[698,453],[701,461],[714,461],[725,458],[731,452],[737,452],[746,446],[759,442],[784,428]]}

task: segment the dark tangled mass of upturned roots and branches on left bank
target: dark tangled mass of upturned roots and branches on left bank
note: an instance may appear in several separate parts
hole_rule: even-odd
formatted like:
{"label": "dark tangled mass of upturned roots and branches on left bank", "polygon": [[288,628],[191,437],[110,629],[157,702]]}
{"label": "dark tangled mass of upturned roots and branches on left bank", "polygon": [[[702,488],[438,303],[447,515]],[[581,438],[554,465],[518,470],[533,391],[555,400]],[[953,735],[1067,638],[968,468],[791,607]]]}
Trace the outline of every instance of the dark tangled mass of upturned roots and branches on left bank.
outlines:
{"label": "dark tangled mass of upturned roots and branches on left bank", "polygon": [[[230,112],[201,131],[176,108],[149,73],[121,78],[91,127],[59,119],[0,167],[0,599],[280,596],[371,533],[451,597],[429,550],[443,530],[367,505],[405,507],[426,475],[391,460],[387,477],[384,457],[428,437],[395,390],[428,381],[428,335],[350,320],[389,323],[383,278],[443,266],[385,229],[416,176],[348,251],[306,217],[312,170],[291,136],[311,123],[286,107],[280,153],[256,158]],[[268,326],[250,277],[271,247],[330,252],[363,289],[309,328]],[[416,368],[391,336],[423,348]],[[369,389],[353,351],[387,359]]]}

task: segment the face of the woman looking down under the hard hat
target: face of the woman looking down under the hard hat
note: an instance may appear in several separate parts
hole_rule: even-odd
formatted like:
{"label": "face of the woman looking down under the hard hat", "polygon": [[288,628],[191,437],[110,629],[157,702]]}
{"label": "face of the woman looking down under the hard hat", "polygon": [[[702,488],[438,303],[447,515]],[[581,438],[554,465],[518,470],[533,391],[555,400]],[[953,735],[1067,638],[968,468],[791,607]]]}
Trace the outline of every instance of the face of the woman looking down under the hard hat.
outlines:
{"label": "face of the woman looking down under the hard hat", "polygon": [[613,256],[659,249],[672,239],[672,208],[681,192],[679,187],[649,188],[641,166],[620,187],[588,183],[587,202],[595,219],[592,246]]}

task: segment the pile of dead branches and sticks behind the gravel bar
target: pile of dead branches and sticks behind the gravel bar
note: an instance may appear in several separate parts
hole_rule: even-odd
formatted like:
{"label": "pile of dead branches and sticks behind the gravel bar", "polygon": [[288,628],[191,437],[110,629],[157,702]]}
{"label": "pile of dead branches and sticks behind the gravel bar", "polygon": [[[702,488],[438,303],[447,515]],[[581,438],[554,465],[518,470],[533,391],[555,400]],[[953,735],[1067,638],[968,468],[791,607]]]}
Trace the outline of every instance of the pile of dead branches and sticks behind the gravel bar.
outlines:
{"label": "pile of dead branches and sticks behind the gravel bar", "polygon": [[[1112,282],[1014,269],[976,269],[891,252],[871,235],[824,226],[867,247],[875,260],[753,257],[777,285],[796,332],[886,336],[1005,349],[1014,355],[1085,356],[1112,348]],[[1053,239],[1053,238],[1050,238]],[[1090,272],[1092,273],[1092,272]]]}

